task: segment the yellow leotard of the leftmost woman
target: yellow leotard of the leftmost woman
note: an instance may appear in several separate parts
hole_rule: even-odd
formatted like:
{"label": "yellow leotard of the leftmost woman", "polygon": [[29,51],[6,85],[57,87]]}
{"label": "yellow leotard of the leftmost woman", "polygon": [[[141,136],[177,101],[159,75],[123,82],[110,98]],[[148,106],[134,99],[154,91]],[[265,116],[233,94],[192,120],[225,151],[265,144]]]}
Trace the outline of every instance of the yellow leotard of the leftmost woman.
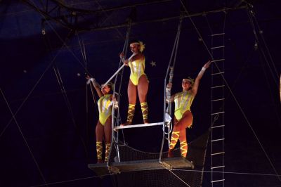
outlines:
{"label": "yellow leotard of the leftmost woman", "polygon": [[103,125],[105,125],[107,117],[109,117],[112,113],[111,100],[110,100],[111,96],[112,96],[111,94],[106,94],[98,99],[98,112],[99,112],[98,120]]}

